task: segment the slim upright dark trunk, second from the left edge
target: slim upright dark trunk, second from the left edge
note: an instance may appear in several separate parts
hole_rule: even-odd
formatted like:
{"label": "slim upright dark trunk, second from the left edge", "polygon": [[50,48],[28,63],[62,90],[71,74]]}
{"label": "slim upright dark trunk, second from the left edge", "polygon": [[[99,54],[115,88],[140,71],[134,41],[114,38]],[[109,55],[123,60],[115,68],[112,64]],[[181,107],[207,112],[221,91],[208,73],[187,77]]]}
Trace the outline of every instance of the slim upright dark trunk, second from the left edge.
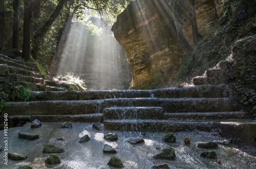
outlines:
{"label": "slim upright dark trunk, second from the left edge", "polygon": [[18,49],[18,2],[13,0],[13,33],[12,33],[12,48]]}

